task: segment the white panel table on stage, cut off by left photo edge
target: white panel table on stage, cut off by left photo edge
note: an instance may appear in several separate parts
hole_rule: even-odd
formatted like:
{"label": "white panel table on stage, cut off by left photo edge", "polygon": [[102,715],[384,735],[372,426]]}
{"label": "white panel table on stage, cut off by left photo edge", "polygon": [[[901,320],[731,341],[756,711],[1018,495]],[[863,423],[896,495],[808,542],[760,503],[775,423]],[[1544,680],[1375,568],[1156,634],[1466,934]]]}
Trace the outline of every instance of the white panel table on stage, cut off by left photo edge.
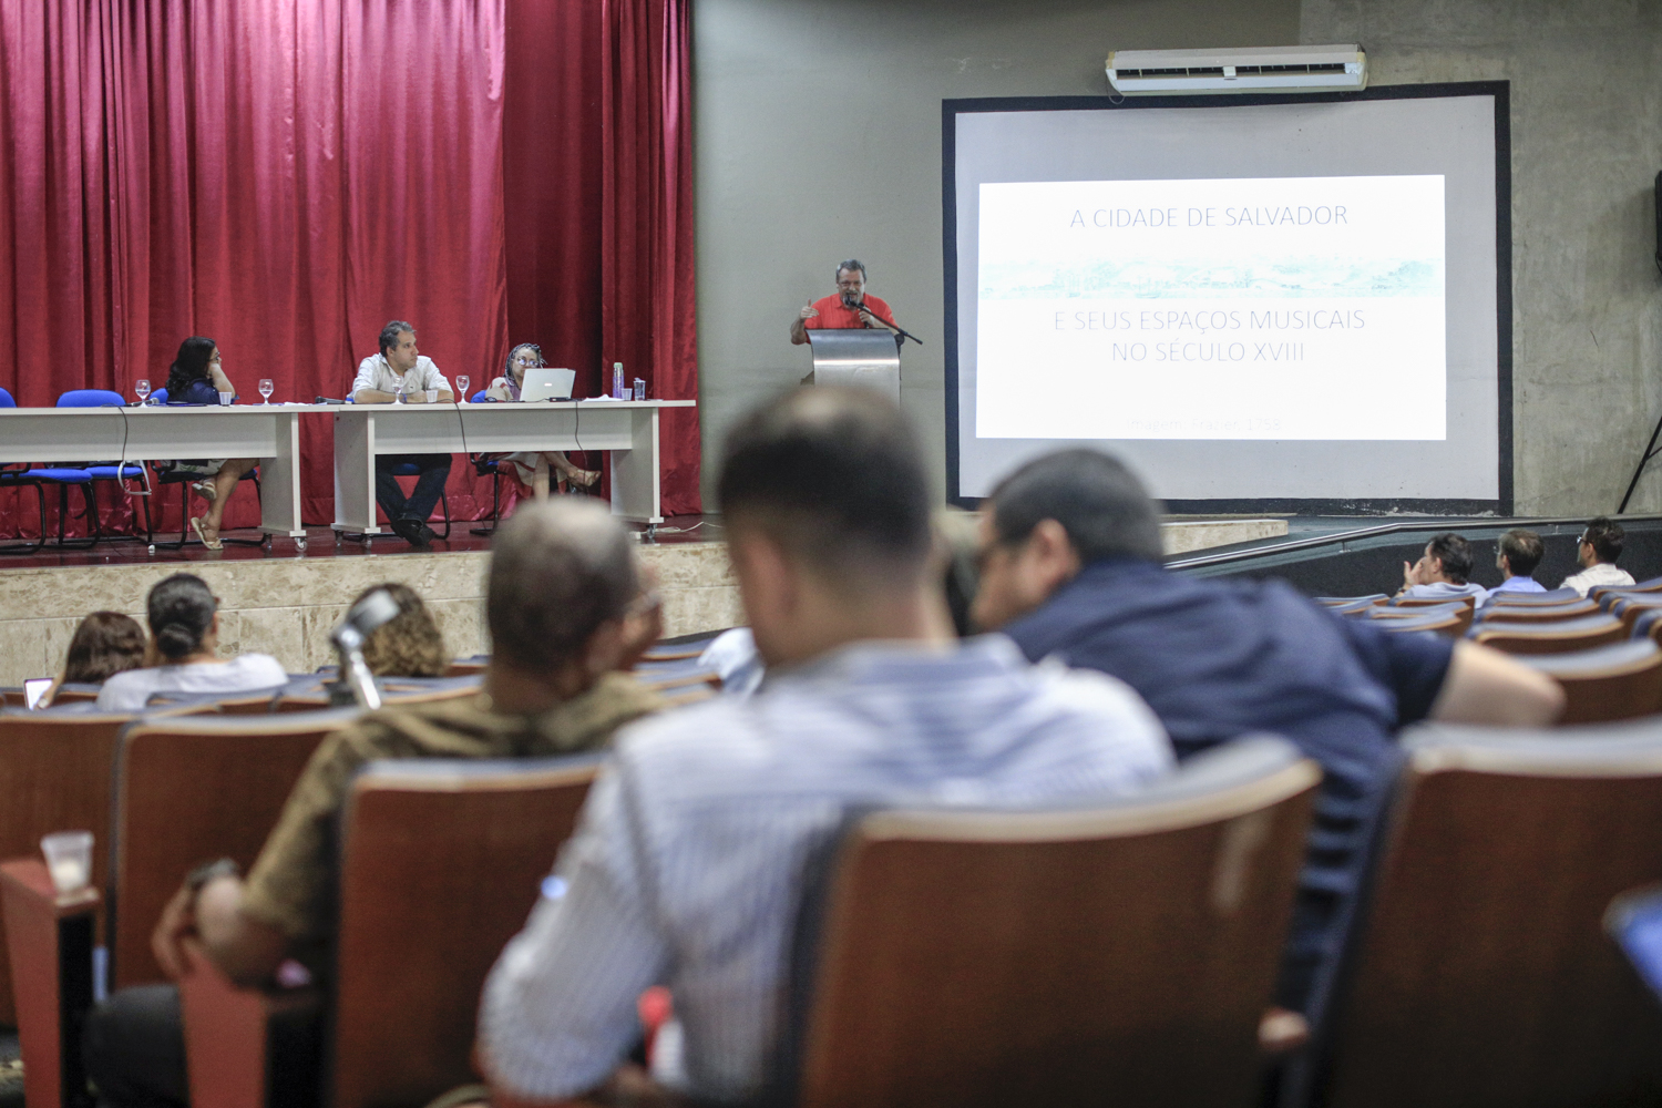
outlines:
{"label": "white panel table on stage, cut off by left photo edge", "polygon": [[0,409],[0,462],[258,458],[259,527],[301,540],[301,430],[311,404]]}

